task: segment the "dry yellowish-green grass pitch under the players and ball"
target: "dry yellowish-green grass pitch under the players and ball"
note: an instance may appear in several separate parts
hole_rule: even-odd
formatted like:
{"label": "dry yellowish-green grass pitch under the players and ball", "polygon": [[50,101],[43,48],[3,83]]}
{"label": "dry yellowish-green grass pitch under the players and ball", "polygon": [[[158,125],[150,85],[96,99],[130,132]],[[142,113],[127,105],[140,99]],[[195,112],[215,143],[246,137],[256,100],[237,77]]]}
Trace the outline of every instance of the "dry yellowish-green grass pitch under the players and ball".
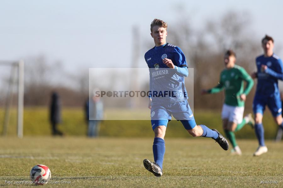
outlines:
{"label": "dry yellowish-green grass pitch under the players and ball", "polygon": [[269,152],[252,153],[256,140],[239,140],[243,155],[232,156],[210,138],[167,138],[164,175],[154,177],[142,160],[153,159],[153,138],[24,137],[0,138],[0,186],[29,180],[31,168],[47,165],[45,187],[283,187],[283,143],[267,141]]}

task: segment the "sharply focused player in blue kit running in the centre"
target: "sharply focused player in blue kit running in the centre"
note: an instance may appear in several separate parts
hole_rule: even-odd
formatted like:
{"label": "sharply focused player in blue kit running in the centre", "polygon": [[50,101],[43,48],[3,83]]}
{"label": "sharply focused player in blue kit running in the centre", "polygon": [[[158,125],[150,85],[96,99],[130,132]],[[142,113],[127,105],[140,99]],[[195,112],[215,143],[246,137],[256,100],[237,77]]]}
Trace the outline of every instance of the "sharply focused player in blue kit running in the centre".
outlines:
{"label": "sharply focused player in blue kit running in the centre", "polygon": [[155,176],[162,176],[165,153],[164,136],[167,123],[173,115],[180,120],[186,130],[193,136],[213,138],[224,149],[229,145],[217,130],[205,125],[197,125],[187,102],[184,76],[188,76],[186,57],[182,50],[166,43],[167,24],[154,19],[150,25],[151,36],[155,46],[145,54],[149,67],[150,91],[148,107],[151,109],[151,124],[154,131],[154,162],[143,160],[144,167]]}

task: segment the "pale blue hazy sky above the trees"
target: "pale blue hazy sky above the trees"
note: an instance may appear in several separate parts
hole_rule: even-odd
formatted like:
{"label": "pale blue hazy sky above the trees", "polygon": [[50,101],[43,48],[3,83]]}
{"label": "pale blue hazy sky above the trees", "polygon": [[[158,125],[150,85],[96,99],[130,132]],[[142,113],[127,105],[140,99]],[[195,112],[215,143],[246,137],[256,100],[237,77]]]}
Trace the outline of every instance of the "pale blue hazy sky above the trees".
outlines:
{"label": "pale blue hazy sky above the trees", "polygon": [[[282,1],[3,0],[0,60],[43,54],[50,61],[61,60],[71,73],[91,67],[129,67],[132,25],[139,27],[142,41],[150,41],[151,21],[174,23],[180,8],[197,28],[229,10],[247,11],[259,45],[264,34],[275,39],[275,52],[276,44],[283,45]],[[282,52],[277,54],[283,57]]]}

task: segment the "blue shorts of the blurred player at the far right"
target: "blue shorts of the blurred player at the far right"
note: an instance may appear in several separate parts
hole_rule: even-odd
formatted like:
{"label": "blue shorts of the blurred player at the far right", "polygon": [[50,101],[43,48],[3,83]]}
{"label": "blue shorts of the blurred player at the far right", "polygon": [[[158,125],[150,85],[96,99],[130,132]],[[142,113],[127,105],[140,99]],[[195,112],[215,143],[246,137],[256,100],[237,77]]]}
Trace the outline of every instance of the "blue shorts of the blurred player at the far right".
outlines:
{"label": "blue shorts of the blurred player at the far right", "polygon": [[282,103],[281,103],[279,93],[275,93],[271,97],[265,97],[265,96],[260,96],[260,95],[256,94],[256,96],[253,99],[253,103],[252,103],[253,113],[254,114],[256,114],[256,113],[263,114],[266,105],[268,106],[269,110],[271,111],[273,117],[277,117],[277,116],[281,115],[281,113],[282,113]]}

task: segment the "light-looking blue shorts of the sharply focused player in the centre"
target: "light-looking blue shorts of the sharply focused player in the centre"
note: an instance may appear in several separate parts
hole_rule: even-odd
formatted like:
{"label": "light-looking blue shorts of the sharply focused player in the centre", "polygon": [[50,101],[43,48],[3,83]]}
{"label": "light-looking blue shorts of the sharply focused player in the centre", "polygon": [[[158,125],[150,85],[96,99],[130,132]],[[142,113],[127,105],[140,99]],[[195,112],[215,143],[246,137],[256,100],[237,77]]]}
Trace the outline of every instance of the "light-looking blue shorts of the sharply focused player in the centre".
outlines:
{"label": "light-looking blue shorts of the sharply focused player in the centre", "polygon": [[171,120],[172,115],[180,120],[187,129],[193,129],[197,124],[188,101],[174,102],[164,105],[153,105],[151,107],[151,125],[154,130],[157,126],[164,125]]}

